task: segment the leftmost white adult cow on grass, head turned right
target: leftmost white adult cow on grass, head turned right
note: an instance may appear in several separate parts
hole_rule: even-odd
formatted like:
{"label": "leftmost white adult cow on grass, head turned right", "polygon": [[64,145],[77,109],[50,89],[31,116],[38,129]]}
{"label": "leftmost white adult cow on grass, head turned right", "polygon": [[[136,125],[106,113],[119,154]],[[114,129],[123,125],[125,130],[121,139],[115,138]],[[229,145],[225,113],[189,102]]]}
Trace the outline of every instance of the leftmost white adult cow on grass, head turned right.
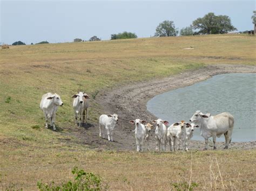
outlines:
{"label": "leftmost white adult cow on grass, head turned right", "polygon": [[42,96],[40,102],[40,108],[44,112],[45,117],[45,128],[48,128],[48,120],[51,121],[53,130],[56,130],[55,117],[56,111],[59,106],[62,106],[63,102],[58,94],[47,93]]}

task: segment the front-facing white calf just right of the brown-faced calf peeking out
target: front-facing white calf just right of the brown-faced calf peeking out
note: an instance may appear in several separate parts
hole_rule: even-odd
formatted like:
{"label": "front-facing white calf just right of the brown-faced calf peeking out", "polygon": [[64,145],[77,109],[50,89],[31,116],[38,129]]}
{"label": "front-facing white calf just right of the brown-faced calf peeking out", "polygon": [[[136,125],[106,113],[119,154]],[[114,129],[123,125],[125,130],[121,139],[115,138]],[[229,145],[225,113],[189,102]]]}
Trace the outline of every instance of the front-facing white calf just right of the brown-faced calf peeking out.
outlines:
{"label": "front-facing white calf just right of the brown-faced calf peeking out", "polygon": [[165,151],[165,147],[167,144],[167,130],[165,125],[168,125],[169,122],[163,121],[162,119],[157,119],[157,121],[153,120],[152,122],[157,124],[157,128],[154,131],[157,141],[156,151],[160,151],[160,144],[163,144],[163,151]]}

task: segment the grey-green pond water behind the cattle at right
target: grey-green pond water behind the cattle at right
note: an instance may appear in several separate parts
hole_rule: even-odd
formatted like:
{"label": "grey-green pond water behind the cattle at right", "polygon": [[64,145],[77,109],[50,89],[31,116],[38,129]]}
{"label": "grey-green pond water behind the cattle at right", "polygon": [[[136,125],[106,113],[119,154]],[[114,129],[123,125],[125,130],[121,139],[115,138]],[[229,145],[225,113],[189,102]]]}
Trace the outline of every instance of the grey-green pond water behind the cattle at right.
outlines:
{"label": "grey-green pond water behind the cattle at right", "polygon": [[[147,110],[170,124],[181,120],[189,122],[197,110],[212,115],[230,112],[234,116],[232,142],[255,141],[256,74],[215,75],[153,97],[147,102]],[[204,140],[199,129],[192,139]],[[217,141],[225,141],[224,136]]]}

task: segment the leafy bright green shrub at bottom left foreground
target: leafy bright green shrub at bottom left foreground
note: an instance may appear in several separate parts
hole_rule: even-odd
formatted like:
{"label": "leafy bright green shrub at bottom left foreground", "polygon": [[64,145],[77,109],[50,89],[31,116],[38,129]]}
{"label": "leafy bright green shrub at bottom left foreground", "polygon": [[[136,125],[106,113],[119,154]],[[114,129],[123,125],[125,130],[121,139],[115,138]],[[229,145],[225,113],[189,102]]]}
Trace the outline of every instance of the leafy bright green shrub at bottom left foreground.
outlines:
{"label": "leafy bright green shrub at bottom left foreground", "polygon": [[72,174],[74,175],[73,181],[62,182],[61,185],[55,185],[55,182],[52,181],[50,184],[42,183],[41,181],[37,182],[37,187],[39,190],[100,190],[102,189],[101,179],[99,176],[93,173],[84,172],[83,169],[78,170],[75,167],[72,170]]}

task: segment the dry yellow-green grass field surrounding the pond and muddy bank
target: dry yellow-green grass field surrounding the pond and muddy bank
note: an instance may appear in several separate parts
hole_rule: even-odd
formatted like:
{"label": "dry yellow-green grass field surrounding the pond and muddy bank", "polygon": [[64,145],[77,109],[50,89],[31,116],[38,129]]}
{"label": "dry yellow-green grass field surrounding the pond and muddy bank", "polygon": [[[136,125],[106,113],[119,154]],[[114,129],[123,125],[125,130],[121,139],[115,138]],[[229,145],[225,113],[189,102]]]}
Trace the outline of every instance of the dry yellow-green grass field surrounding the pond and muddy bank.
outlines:
{"label": "dry yellow-green grass field surrounding the pond and muddy bank", "polygon": [[[183,49],[189,47],[194,49]],[[103,88],[205,65],[256,65],[255,55],[256,38],[242,34],[0,49],[2,188],[12,182],[17,188],[35,189],[41,179],[68,180],[74,166],[99,174],[110,189],[171,189],[173,182],[189,182],[191,153],[97,152],[67,136],[76,128],[71,96],[84,90],[93,97]],[[58,93],[65,104],[57,114],[62,131],[44,129],[39,102],[46,92]],[[102,106],[93,99],[91,105],[89,118],[96,123]],[[253,189],[255,156],[256,150],[193,152],[191,181],[198,189]]]}

